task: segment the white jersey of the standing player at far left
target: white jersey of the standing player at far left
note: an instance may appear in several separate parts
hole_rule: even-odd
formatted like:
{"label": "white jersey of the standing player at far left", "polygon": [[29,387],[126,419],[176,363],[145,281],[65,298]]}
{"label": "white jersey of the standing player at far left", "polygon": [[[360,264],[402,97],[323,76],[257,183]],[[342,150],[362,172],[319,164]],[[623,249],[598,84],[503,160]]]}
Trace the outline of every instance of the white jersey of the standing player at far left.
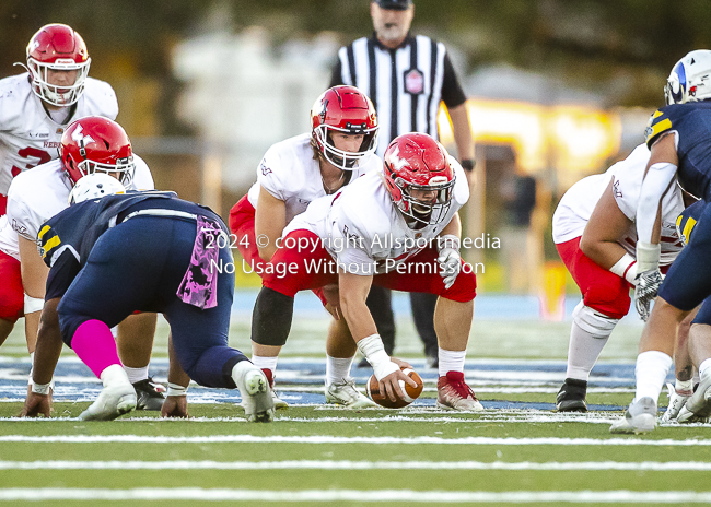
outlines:
{"label": "white jersey of the standing player at far left", "polygon": [[8,194],[12,178],[21,172],[59,156],[61,134],[71,121],[85,116],[116,119],[118,102],[110,85],[86,78],[84,86],[70,106],[74,114],[60,125],[32,91],[26,72],[0,80],[0,194]]}

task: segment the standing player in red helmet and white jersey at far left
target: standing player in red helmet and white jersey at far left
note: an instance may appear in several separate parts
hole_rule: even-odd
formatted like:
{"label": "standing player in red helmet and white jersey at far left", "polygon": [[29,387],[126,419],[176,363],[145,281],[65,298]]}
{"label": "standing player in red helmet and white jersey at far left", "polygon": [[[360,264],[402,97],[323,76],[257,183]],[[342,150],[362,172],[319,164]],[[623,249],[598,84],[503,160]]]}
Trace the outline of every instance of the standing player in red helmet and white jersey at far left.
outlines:
{"label": "standing player in red helmet and white jersey at far left", "polygon": [[[0,80],[0,227],[8,190],[20,173],[59,156],[59,141],[73,119],[101,115],[115,119],[114,90],[88,78],[91,58],[71,27],[49,24],[32,36],[27,72]],[[20,264],[0,252],[0,344],[23,316]]]}

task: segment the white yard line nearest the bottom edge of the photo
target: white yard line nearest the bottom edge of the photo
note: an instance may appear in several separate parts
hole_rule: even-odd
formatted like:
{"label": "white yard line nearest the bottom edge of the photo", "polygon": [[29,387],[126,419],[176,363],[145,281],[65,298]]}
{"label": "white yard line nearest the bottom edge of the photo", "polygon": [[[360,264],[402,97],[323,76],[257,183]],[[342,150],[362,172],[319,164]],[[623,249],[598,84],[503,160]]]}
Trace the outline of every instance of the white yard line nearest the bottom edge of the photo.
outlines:
{"label": "white yard line nearest the bottom edge of the photo", "polygon": [[658,491],[556,491],[556,492],[453,492],[412,490],[296,490],[257,491],[201,487],[108,488],[8,488],[0,490],[0,500],[197,500],[197,502],[411,502],[426,504],[499,504],[553,503],[567,504],[706,504],[711,492]]}

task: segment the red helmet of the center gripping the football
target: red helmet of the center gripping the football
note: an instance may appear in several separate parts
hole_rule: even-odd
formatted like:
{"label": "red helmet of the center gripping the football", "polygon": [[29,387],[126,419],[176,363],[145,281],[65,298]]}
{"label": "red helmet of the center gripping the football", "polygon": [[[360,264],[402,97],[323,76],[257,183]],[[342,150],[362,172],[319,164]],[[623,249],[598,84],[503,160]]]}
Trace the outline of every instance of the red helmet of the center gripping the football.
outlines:
{"label": "red helmet of the center gripping the football", "polygon": [[416,132],[385,150],[385,186],[410,228],[439,224],[450,211],[455,176],[448,156],[442,144]]}

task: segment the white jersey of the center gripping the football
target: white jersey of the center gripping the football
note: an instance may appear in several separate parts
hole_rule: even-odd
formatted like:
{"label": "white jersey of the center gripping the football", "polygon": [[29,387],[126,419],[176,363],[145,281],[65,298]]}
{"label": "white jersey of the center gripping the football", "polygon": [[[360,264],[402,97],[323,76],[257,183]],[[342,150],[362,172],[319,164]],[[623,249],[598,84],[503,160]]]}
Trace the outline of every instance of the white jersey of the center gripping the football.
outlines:
{"label": "white jersey of the center gripping the football", "polygon": [[[359,178],[335,196],[314,201],[284,229],[307,229],[324,240],[331,257],[353,274],[381,274],[416,256],[436,238],[469,199],[469,185],[459,163],[450,157],[455,184],[444,220],[418,231],[408,227],[393,202],[382,172]],[[433,244],[436,247],[436,243]],[[387,260],[391,262],[387,262]]]}

